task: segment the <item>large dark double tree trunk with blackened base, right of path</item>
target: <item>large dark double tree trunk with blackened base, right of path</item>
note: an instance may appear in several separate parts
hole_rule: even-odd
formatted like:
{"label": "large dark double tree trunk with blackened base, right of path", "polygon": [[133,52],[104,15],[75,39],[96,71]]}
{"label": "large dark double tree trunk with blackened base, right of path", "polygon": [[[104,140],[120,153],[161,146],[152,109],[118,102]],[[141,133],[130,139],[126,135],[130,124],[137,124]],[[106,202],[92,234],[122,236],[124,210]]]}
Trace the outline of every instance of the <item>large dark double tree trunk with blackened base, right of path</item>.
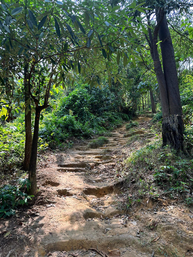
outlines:
{"label": "large dark double tree trunk with blackened base, right of path", "polygon": [[[148,28],[150,53],[154,63],[154,70],[160,91],[160,101],[162,106],[163,124],[162,138],[163,145],[169,144],[176,150],[186,152],[184,145],[182,119],[182,105],[180,101],[178,76],[172,40],[167,24],[166,14],[162,8],[156,9],[157,25],[154,28],[153,35]],[[150,17],[148,16],[148,25]],[[157,50],[157,38],[159,38],[162,53],[163,70]]]}

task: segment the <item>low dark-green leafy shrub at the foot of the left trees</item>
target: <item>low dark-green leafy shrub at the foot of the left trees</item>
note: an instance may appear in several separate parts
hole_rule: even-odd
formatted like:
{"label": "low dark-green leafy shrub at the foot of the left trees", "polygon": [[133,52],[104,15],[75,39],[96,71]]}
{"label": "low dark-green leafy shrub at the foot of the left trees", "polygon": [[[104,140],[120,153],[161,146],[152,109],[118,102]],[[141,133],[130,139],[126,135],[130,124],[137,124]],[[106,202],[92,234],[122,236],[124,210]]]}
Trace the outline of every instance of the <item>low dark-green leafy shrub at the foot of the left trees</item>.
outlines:
{"label": "low dark-green leafy shrub at the foot of the left trees", "polygon": [[18,179],[16,186],[5,185],[0,189],[0,217],[6,217],[15,214],[18,205],[28,204],[27,201],[34,195],[28,195],[20,190],[30,187],[28,179]]}

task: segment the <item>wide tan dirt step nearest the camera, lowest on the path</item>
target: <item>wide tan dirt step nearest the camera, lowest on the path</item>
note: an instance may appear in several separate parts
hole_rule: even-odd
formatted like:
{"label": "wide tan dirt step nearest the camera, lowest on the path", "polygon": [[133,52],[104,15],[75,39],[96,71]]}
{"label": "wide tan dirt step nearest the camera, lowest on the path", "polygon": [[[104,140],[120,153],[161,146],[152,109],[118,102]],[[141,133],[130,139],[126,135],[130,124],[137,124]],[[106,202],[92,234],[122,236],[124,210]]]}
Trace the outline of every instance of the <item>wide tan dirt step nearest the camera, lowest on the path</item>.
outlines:
{"label": "wide tan dirt step nearest the camera, lowest on the path", "polygon": [[[94,225],[94,221],[91,221],[92,225]],[[91,222],[87,222],[89,225],[91,225]],[[84,231],[86,228],[84,229]],[[76,231],[74,234],[70,233],[70,235],[52,235],[49,236],[49,240],[47,239],[47,242],[50,241],[49,244],[47,244],[45,247],[47,251],[57,250],[57,251],[71,251],[77,250],[77,249],[103,249],[103,251],[108,251],[108,249],[120,249],[122,247],[127,246],[128,242],[129,245],[133,245],[134,248],[140,249],[141,252],[145,252],[147,249],[145,246],[141,246],[141,242],[139,242],[138,238],[136,236],[130,235],[128,233],[125,234],[119,234],[114,236],[109,236],[106,234],[100,235],[99,233],[99,224],[95,224],[95,231],[91,230],[92,236],[85,235],[84,231]],[[87,230],[86,230],[87,231]],[[89,231],[89,230],[88,230]],[[57,236],[57,237],[55,237]],[[45,239],[44,239],[45,240]],[[46,242],[46,240],[45,240]],[[47,243],[46,242],[46,243]],[[103,255],[104,256],[104,255]],[[117,255],[118,256],[118,255]],[[127,252],[127,255],[124,255],[127,257],[134,257],[136,255],[133,255],[132,252]],[[143,256],[141,254],[138,255]],[[137,257],[137,256],[136,256]]]}

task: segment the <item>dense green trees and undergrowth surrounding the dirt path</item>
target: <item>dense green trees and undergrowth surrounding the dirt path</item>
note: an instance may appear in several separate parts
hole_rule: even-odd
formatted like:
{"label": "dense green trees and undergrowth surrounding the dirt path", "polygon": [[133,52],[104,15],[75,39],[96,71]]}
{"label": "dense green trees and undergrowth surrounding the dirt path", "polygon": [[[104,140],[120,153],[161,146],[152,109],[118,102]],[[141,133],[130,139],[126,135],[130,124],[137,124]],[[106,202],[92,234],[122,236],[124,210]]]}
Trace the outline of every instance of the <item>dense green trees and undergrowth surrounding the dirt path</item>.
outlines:
{"label": "dense green trees and undergrowth surrounding the dirt path", "polygon": [[133,153],[131,169],[140,160],[155,171],[153,187],[191,187],[191,1],[45,2],[0,5],[0,215],[31,198],[24,188],[37,193],[38,154],[86,138],[94,138],[88,148],[100,146],[145,112],[160,124],[165,148],[157,156],[158,141]]}

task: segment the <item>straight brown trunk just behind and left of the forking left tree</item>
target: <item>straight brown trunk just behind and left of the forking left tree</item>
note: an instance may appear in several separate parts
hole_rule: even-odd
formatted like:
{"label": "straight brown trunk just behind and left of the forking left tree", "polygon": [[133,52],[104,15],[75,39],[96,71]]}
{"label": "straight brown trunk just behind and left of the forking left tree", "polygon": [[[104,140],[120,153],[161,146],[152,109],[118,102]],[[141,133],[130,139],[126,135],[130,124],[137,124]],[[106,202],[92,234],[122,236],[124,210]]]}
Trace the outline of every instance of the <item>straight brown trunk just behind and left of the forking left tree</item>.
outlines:
{"label": "straight brown trunk just behind and left of the forking left tree", "polygon": [[[24,66],[24,96],[25,105],[30,105],[30,94],[28,88],[28,64]],[[28,110],[28,112],[27,112]],[[31,110],[25,108],[25,156],[24,156],[24,170],[29,170],[30,155],[32,146],[32,131],[31,131]]]}

